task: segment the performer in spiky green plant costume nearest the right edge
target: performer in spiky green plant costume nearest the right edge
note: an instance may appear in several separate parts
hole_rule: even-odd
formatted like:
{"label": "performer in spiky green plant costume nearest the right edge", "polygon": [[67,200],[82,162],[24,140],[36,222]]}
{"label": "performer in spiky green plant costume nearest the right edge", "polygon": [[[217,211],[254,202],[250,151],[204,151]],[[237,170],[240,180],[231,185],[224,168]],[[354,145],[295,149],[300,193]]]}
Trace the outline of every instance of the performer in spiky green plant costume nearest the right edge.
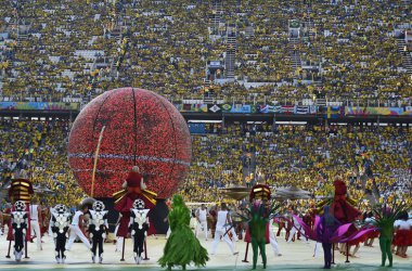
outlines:
{"label": "performer in spiky green plant costume nearest the right edge", "polygon": [[379,247],[382,251],[382,264],[381,267],[385,267],[386,258],[388,258],[389,264],[392,266],[392,251],[390,249],[392,238],[394,238],[394,222],[398,219],[399,214],[404,210],[408,210],[409,207],[404,204],[396,204],[396,199],[394,201],[392,207],[389,208],[386,204],[384,206],[376,206],[373,209],[375,215],[375,223],[374,225],[379,229]]}

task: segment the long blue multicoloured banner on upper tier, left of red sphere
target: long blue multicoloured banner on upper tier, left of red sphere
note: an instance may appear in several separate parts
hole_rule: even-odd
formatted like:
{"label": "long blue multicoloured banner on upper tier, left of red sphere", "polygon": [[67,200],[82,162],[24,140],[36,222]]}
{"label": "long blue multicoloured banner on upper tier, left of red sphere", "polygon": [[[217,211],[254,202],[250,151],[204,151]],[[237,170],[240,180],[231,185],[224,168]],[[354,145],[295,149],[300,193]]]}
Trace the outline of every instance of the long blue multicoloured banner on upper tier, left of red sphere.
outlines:
{"label": "long blue multicoloured banner on upper tier, left of red sphere", "polygon": [[1,111],[78,111],[79,108],[79,103],[0,102]]}

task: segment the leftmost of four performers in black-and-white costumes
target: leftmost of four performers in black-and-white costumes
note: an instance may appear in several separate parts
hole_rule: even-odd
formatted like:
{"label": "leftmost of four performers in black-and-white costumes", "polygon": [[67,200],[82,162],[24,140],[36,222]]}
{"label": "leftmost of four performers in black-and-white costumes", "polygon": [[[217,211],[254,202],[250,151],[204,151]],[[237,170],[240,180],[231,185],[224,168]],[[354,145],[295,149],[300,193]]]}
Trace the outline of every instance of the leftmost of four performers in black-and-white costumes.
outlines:
{"label": "leftmost of four performers in black-and-white costumes", "polygon": [[21,261],[24,248],[24,241],[28,228],[28,215],[26,211],[26,204],[22,201],[17,201],[14,204],[14,209],[15,210],[11,214],[14,236],[14,256],[16,261]]}

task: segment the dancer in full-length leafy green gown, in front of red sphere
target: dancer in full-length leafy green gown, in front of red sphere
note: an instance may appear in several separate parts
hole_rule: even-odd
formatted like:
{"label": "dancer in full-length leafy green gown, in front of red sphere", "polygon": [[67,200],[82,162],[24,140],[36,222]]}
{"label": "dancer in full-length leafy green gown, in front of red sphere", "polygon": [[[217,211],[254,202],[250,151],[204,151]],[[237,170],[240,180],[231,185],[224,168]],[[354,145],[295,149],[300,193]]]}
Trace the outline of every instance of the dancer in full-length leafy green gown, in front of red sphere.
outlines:
{"label": "dancer in full-length leafy green gown, in front of red sphere", "polygon": [[168,270],[171,270],[173,266],[181,266],[185,270],[186,264],[191,262],[201,267],[209,260],[207,250],[190,229],[190,215],[182,196],[175,195],[169,212],[171,234],[167,240],[163,257],[158,260],[163,268],[167,267]]}

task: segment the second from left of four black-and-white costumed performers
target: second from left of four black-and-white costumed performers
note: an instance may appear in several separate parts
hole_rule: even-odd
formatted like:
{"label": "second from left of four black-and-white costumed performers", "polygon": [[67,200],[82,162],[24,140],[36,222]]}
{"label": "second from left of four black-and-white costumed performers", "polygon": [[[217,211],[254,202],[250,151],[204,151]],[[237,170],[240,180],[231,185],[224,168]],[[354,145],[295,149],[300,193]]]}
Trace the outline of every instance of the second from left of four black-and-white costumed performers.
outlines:
{"label": "second from left of four black-and-white costumed performers", "polygon": [[50,228],[53,233],[54,244],[55,244],[55,260],[57,263],[64,263],[66,256],[64,251],[66,250],[66,240],[67,231],[70,224],[70,212],[63,204],[57,204],[51,214]]}

